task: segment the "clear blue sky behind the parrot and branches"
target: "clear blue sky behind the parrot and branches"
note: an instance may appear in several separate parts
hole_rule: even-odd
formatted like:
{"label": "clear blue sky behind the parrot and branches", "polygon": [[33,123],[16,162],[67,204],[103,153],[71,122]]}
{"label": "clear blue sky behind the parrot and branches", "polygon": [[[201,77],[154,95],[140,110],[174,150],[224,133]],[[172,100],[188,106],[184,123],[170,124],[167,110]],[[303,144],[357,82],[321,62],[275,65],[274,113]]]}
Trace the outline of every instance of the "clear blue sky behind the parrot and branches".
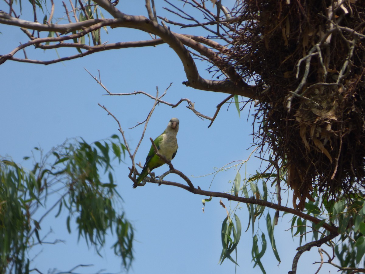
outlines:
{"label": "clear blue sky behind the parrot and branches", "polygon": [[[156,1],[157,2],[157,1]],[[233,1],[226,1],[227,6]],[[132,3],[132,4],[131,4]],[[24,6],[28,3],[24,3]],[[146,15],[144,1],[132,1],[118,6],[123,12],[134,15]],[[24,7],[23,7],[24,8]],[[5,9],[3,2],[0,9]],[[158,9],[158,14],[169,15]],[[107,17],[106,12],[104,12]],[[27,16],[23,19],[26,19]],[[19,42],[27,38],[16,27],[1,26],[0,54],[10,52]],[[176,28],[176,31],[180,30]],[[182,31],[196,33],[196,30]],[[132,41],[149,39],[149,35],[137,30],[109,30],[103,36],[103,41]],[[76,50],[59,50],[59,54],[76,54]],[[22,53],[20,53],[22,54]],[[28,58],[50,60],[57,58],[54,50],[27,51]],[[204,70],[207,65],[197,61],[203,77],[210,77]],[[153,100],[144,95],[135,96],[102,96],[105,91],[84,70],[93,75],[100,70],[101,81],[114,93],[124,93],[142,90],[155,94],[158,86],[160,94],[172,82],[164,100],[176,103],[180,98],[189,98],[195,102],[195,107],[201,113],[212,116],[215,107],[227,94],[193,90],[181,83],[186,80],[183,66],[176,54],[167,45],[151,48],[134,48],[111,50],[96,53],[77,60],[66,61],[52,65],[34,65],[7,61],[0,66],[1,74],[1,134],[0,155],[11,156],[12,159],[25,167],[30,167],[24,156],[31,154],[35,146],[45,152],[61,144],[67,138],[82,137],[88,142],[97,141],[118,134],[118,125],[97,103],[107,107],[120,121],[126,132],[128,144],[132,149],[138,144],[143,128],[141,126],[128,129],[143,121]],[[186,104],[177,108],[160,105],[154,111],[145,138],[136,156],[143,164],[150,148],[149,137],[155,138],[165,129],[172,117],[180,119],[180,131],[177,135],[179,149],[174,167],[191,177],[195,186],[214,191],[229,191],[234,180],[235,170],[220,172],[212,181],[213,176],[201,175],[214,172],[214,168],[222,167],[234,160],[246,160],[252,148],[252,118],[248,108],[238,116],[234,105],[222,107],[211,128],[210,121],[196,117]],[[248,118],[248,121],[247,121]],[[214,198],[206,203],[205,213],[202,212],[201,199],[185,190],[169,186],[146,184],[145,187],[132,189],[132,182],[127,178],[127,164],[115,165],[115,175],[118,191],[124,202],[118,202],[120,210],[126,212],[127,218],[135,228],[134,255],[131,273],[234,273],[235,267],[230,261],[218,265],[221,252],[220,230],[226,210],[219,205],[219,199]],[[251,157],[247,165],[241,169],[242,177],[254,174],[260,168],[260,161]],[[155,170],[159,175],[167,170],[162,166]],[[180,178],[169,175],[168,180],[182,182]],[[285,187],[285,186],[284,186]],[[283,196],[291,195],[290,191]],[[289,199],[290,200],[290,199]],[[223,199],[228,206],[229,201]],[[232,204],[233,205],[233,204]],[[233,207],[235,204],[233,205]],[[248,214],[245,205],[237,211],[242,226],[246,227]],[[289,204],[290,206],[290,204]],[[94,273],[105,269],[105,273],[119,273],[121,260],[109,248],[113,236],[108,236],[108,243],[101,252],[100,258],[93,248],[88,249],[84,240],[77,241],[76,224],[72,224],[73,233],[69,235],[64,216],[54,220],[51,214],[41,225],[41,233],[45,235],[52,228],[48,240],[63,239],[65,243],[56,246],[43,245],[30,252],[34,258],[34,267],[43,273],[57,268],[69,270],[78,264],[93,264],[93,267],[77,269],[78,273]],[[266,213],[264,214],[266,215]],[[64,218],[62,218],[64,217]],[[297,239],[293,240],[290,232],[290,219],[285,215],[280,218],[275,228],[275,238],[282,262],[277,266],[276,259],[268,245],[262,263],[267,273],[287,273],[291,268],[295,248],[299,246]],[[255,231],[262,229],[266,233],[264,217],[257,224]],[[288,230],[289,229],[289,230]],[[288,231],[286,231],[288,230]],[[261,235],[261,232],[259,232]],[[311,240],[309,237],[308,240]],[[240,265],[237,273],[261,273],[256,267],[252,269],[251,262],[252,232],[251,228],[242,235],[238,245]],[[330,248],[327,248],[330,252]],[[297,273],[314,273],[319,261],[316,250],[304,253],[299,261]],[[326,271],[327,270],[327,271]],[[336,271],[333,267],[322,267],[320,273]]]}

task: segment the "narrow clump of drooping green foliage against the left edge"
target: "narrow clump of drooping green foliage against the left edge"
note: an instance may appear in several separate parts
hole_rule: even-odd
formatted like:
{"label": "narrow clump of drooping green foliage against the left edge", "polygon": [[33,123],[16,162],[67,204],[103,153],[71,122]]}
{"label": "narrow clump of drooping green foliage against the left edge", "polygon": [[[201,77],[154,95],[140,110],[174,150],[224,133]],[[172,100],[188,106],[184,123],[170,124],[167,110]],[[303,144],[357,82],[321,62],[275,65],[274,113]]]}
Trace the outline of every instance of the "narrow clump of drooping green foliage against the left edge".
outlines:
{"label": "narrow clump of drooping green foliage against the left edge", "polygon": [[28,270],[25,251],[32,229],[29,201],[37,200],[39,186],[33,174],[8,160],[0,162],[0,180],[0,273],[8,262],[22,273]]}

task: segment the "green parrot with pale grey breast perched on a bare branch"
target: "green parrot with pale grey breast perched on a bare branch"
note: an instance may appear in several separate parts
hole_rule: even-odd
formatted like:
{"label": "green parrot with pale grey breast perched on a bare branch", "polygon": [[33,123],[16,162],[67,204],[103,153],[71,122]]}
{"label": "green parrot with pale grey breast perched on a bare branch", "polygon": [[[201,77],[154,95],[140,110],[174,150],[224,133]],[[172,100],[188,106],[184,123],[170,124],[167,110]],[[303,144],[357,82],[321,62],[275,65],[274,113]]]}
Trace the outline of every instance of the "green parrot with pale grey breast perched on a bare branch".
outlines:
{"label": "green parrot with pale grey breast perched on a bare branch", "polygon": [[[176,155],[178,148],[176,134],[178,130],[179,119],[172,118],[168,123],[165,131],[153,141],[156,148],[158,149],[158,152],[161,155],[165,156],[168,160],[174,159]],[[137,178],[137,183],[133,184],[133,188],[135,189],[151,170],[160,167],[163,164],[165,164],[164,160],[156,155],[155,149],[153,145],[151,145],[150,152],[148,153],[146,158],[146,163],[143,166],[141,174]]]}

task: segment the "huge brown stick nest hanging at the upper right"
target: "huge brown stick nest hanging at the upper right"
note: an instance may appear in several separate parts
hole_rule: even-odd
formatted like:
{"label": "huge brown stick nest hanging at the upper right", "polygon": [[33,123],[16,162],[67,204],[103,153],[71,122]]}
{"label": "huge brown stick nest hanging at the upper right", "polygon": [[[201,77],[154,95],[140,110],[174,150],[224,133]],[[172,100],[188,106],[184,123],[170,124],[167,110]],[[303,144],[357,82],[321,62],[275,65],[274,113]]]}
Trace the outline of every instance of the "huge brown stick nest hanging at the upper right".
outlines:
{"label": "huge brown stick nest hanging at the upper right", "polygon": [[229,61],[265,88],[255,134],[287,169],[293,204],[363,191],[365,1],[246,0],[237,12]]}

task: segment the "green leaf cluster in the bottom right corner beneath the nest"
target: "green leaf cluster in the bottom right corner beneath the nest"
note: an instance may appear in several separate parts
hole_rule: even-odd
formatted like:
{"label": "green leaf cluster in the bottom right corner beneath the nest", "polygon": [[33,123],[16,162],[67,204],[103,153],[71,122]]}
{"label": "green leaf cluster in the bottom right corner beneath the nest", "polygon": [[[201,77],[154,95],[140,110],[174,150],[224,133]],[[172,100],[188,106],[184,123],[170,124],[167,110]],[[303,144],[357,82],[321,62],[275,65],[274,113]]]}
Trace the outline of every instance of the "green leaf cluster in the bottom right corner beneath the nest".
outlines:
{"label": "green leaf cluster in the bottom right corner beneath the nest", "polygon": [[[315,241],[327,236],[329,232],[323,228],[324,224],[335,225],[338,227],[339,236],[333,240],[332,245],[341,268],[364,267],[365,237],[362,233],[365,233],[364,198],[357,194],[351,199],[338,198],[336,201],[316,197],[315,202],[306,203],[304,212],[322,220],[318,223],[312,222],[311,231],[308,231],[307,220],[293,216],[291,231],[293,236],[300,237],[300,244],[303,236],[310,232]],[[352,273],[352,271],[347,269],[342,273]]]}

